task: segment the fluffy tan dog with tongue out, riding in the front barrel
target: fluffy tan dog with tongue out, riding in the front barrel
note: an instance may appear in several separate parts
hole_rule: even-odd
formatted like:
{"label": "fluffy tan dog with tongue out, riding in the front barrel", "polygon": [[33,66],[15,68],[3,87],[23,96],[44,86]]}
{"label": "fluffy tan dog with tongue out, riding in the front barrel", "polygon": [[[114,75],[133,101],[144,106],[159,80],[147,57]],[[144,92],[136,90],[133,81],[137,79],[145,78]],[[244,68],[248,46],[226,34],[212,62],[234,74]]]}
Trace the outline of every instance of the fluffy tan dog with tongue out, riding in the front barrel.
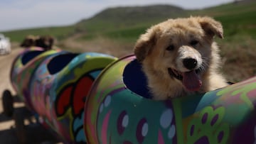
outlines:
{"label": "fluffy tan dog with tongue out, riding in the front barrel", "polygon": [[204,93],[227,86],[213,38],[223,26],[210,17],[169,19],[151,26],[134,45],[155,100]]}

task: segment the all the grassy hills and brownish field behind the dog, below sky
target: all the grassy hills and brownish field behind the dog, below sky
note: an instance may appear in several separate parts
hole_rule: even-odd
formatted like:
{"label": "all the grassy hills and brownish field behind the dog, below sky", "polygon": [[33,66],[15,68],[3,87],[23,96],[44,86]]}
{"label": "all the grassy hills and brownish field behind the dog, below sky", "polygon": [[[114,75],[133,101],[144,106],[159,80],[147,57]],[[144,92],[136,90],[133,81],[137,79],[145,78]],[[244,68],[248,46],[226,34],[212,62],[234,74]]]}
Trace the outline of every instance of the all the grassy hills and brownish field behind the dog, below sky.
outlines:
{"label": "all the grassy hills and brownish field behind the dog, below sky", "polygon": [[106,52],[120,57],[146,28],[168,18],[212,16],[223,24],[224,39],[216,39],[223,57],[223,73],[238,82],[256,75],[256,1],[242,1],[201,10],[175,6],[117,7],[105,9],[73,26],[4,32],[20,43],[26,35],[53,35],[60,48],[75,52]]}

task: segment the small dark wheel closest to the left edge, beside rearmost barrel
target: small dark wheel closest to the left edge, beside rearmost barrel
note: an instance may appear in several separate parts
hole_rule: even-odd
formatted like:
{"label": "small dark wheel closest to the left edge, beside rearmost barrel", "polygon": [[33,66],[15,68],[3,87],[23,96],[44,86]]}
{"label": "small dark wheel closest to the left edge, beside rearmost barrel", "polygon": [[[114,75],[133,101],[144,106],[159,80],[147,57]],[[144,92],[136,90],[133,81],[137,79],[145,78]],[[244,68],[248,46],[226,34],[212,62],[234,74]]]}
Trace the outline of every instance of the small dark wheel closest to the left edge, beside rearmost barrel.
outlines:
{"label": "small dark wheel closest to the left edge, beside rearmost barrel", "polygon": [[3,92],[2,106],[4,109],[4,115],[11,117],[14,113],[14,98],[8,89]]}

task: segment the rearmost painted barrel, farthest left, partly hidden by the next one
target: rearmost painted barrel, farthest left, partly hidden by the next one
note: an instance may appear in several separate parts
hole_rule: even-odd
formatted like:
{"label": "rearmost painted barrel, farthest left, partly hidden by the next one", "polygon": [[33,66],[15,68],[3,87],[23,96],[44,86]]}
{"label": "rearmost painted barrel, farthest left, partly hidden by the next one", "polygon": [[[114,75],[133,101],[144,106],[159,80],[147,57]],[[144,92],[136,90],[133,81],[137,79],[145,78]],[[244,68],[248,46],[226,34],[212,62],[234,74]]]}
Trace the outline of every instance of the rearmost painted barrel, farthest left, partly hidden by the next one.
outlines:
{"label": "rearmost painted barrel, farthest left, partly hidden by the next one", "polygon": [[31,104],[29,84],[31,77],[41,62],[52,55],[59,55],[64,51],[48,50],[32,47],[23,50],[14,59],[11,66],[11,84],[17,92],[18,98],[25,102],[26,107],[34,112]]}

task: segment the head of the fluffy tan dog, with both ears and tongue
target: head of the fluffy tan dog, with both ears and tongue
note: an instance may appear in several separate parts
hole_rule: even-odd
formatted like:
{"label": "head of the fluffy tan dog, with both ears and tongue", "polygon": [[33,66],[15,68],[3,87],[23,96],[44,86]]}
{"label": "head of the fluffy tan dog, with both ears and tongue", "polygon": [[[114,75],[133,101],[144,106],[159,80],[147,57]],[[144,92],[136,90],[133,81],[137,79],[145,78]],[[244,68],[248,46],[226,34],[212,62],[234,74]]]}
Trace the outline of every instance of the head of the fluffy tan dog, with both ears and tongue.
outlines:
{"label": "head of the fluffy tan dog, with both ears and tongue", "polygon": [[212,57],[213,37],[223,28],[209,17],[177,18],[149,28],[134,47],[137,60],[154,70],[167,71],[190,91],[201,87],[201,73]]}

